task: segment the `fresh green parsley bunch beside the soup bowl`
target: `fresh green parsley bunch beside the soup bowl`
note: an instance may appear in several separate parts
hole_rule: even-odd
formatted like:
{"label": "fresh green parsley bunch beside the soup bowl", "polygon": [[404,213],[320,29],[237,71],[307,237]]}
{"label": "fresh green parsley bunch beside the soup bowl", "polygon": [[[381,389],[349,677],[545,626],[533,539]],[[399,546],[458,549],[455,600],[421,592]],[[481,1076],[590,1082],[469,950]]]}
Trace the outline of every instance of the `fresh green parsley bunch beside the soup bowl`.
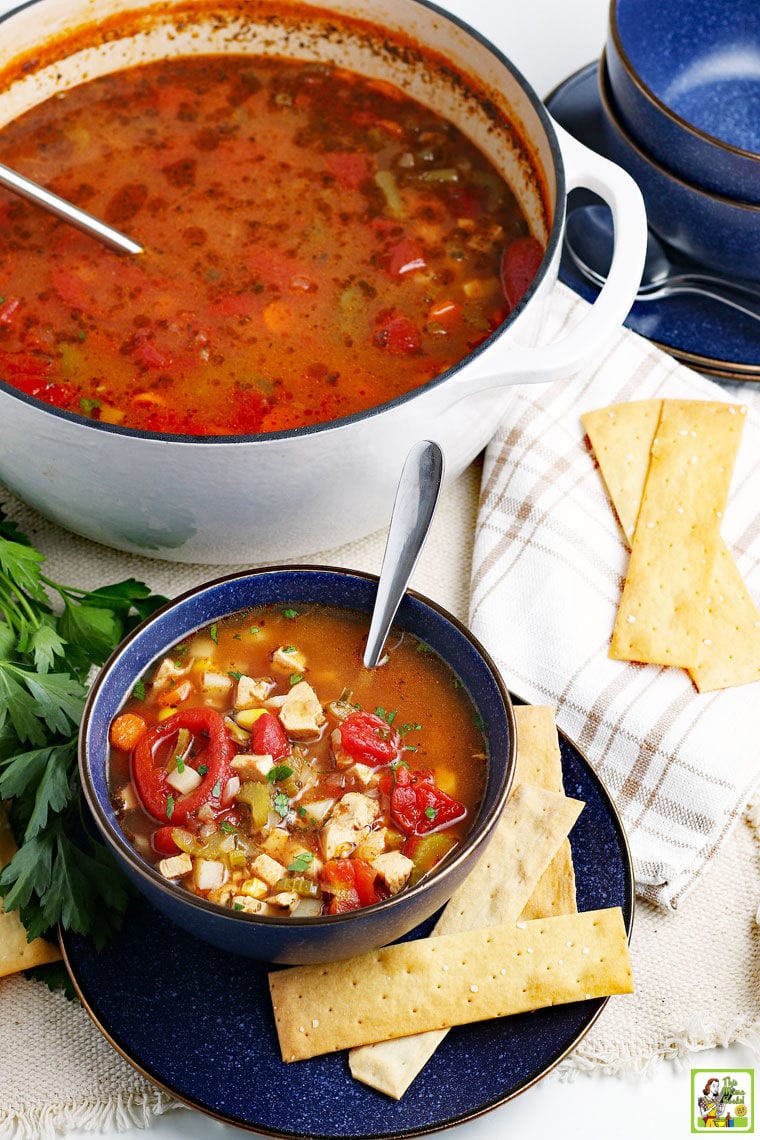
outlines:
{"label": "fresh green parsley bunch beside the soup bowl", "polygon": [[165,598],[134,578],[67,586],[44,561],[0,510],[0,800],[18,842],[0,897],[30,938],[62,923],[103,946],[128,888],[84,819],[79,724],[92,666]]}

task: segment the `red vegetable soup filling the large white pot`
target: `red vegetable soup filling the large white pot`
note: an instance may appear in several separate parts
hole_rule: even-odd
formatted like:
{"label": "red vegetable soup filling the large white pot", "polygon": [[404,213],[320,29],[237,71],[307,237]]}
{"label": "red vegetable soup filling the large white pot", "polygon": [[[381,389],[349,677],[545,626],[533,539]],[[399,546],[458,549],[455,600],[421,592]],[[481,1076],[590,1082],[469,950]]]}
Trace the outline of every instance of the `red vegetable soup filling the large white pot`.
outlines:
{"label": "red vegetable soup filling the large white pot", "polygon": [[541,255],[457,128],[326,65],[128,68],[8,124],[0,161],[145,246],[115,255],[0,198],[0,377],[148,431],[289,430],[393,399],[504,320],[513,243],[521,269]]}

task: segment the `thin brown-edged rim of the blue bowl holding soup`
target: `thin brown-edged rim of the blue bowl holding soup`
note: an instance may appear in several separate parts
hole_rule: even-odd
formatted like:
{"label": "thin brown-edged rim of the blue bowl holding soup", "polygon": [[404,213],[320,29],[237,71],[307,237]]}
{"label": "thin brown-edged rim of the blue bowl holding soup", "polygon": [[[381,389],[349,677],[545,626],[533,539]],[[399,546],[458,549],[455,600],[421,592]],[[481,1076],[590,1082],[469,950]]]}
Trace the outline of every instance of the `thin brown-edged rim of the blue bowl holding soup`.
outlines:
{"label": "thin brown-edged rim of the blue bowl holding soup", "polygon": [[[104,687],[107,677],[114,666],[119,660],[126,653],[133,642],[138,641],[144,633],[152,626],[156,620],[160,620],[164,614],[169,613],[172,609],[178,605],[190,602],[204,593],[210,591],[215,591],[220,586],[223,587],[234,581],[243,581],[246,578],[260,578],[265,575],[333,575],[336,578],[352,578],[361,579],[368,584],[377,583],[378,576],[369,571],[354,570],[344,567],[333,567],[322,565],[317,563],[297,563],[293,565],[265,565],[255,567],[248,570],[236,571],[232,573],[221,575],[216,578],[212,578],[209,581],[204,581],[198,586],[186,591],[185,593],[178,595],[175,598],[166,602],[164,605],[160,606],[154,613],[141,621],[134,627],[119,644],[114,650],[107,661],[103,665],[98,676],[96,677],[90,692],[88,693],[84,710],[82,712],[82,719],[79,731],[77,741],[77,758],[79,758],[79,769],[82,781],[82,790],[84,792],[84,798],[92,813],[96,825],[101,834],[101,837],[107,841],[109,847],[119,855],[120,858],[129,865],[130,870],[138,874],[138,877],[144,880],[149,887],[158,890],[162,895],[167,896],[170,899],[177,901],[178,903],[188,906],[189,911],[198,910],[210,917],[215,918],[218,921],[243,921],[248,926],[263,926],[264,928],[275,928],[280,930],[309,930],[309,929],[328,929],[332,927],[340,927],[342,923],[351,922],[352,919],[356,921],[357,914],[360,915],[371,915],[381,912],[382,914],[387,914],[390,911],[394,911],[399,907],[404,909],[409,901],[414,897],[422,897],[426,895],[431,889],[435,890],[436,886],[440,885],[446,879],[450,878],[452,873],[456,873],[457,869],[460,868],[461,863],[477,855],[477,852],[483,848],[483,845],[488,842],[489,838],[493,833],[493,829],[498,823],[504,805],[507,801],[516,772],[516,752],[517,752],[517,726],[515,719],[514,705],[512,701],[512,695],[507,689],[499,669],[484,646],[474,636],[473,633],[456,618],[449,610],[443,605],[435,602],[433,598],[427,597],[424,594],[415,589],[407,589],[406,595],[414,600],[418,605],[424,609],[432,610],[439,618],[442,618],[446,622],[453,627],[460,637],[473,648],[476,654],[485,665],[485,668],[491,674],[491,677],[496,684],[496,687],[504,707],[505,722],[509,732],[509,751],[505,760],[505,772],[504,779],[497,787],[495,803],[491,805],[490,809],[481,817],[480,814],[475,819],[472,830],[466,834],[460,847],[453,853],[450,860],[446,860],[444,864],[441,866],[435,874],[427,879],[422,879],[415,887],[409,888],[409,890],[403,890],[398,895],[393,895],[390,898],[385,898],[379,903],[373,903],[370,906],[363,906],[360,911],[350,911],[343,914],[322,914],[311,918],[294,918],[289,917],[287,919],[279,918],[278,915],[260,915],[260,914],[247,914],[245,912],[226,911],[223,907],[215,903],[210,903],[205,898],[201,898],[190,891],[182,893],[181,888],[178,888],[174,883],[167,881],[163,876],[142,858],[134,847],[128,841],[126,837],[108,819],[106,811],[100,801],[100,797],[95,788],[92,775],[91,775],[91,760],[90,760],[90,749],[89,736],[90,736],[90,725],[92,722],[93,707],[97,703],[98,695]],[[342,603],[336,602],[336,605]],[[349,609],[356,606],[348,606]],[[235,611],[231,611],[235,612]],[[367,611],[369,613],[369,611]],[[213,620],[214,617],[221,618],[224,614],[210,614],[209,620]],[[180,635],[181,636],[181,635]],[[170,643],[173,644],[177,637]],[[166,646],[166,649],[170,648]],[[448,662],[447,662],[448,663]],[[449,665],[449,668],[453,668]],[[475,699],[471,694],[471,699]]]}

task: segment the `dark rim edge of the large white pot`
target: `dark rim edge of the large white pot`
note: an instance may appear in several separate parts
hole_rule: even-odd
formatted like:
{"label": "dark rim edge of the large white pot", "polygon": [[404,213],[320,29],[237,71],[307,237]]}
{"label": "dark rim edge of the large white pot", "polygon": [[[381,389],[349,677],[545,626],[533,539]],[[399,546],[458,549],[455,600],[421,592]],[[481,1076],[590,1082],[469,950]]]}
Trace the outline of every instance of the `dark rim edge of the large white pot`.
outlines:
{"label": "dark rim edge of the large white pot", "polygon": [[[551,169],[547,171],[547,177],[554,176],[554,189],[555,189],[555,213],[551,219],[551,226],[549,229],[549,237],[541,260],[541,264],[530,283],[528,290],[520,299],[514,309],[505,317],[498,328],[495,328],[485,340],[481,341],[474,349],[472,349],[461,360],[451,365],[444,372],[439,373],[438,376],[433,376],[425,384],[420,384],[417,388],[411,389],[408,392],[402,392],[400,396],[394,397],[391,400],[386,400],[383,404],[377,404],[371,408],[366,408],[363,412],[354,412],[348,416],[341,416],[337,420],[328,420],[325,423],[308,424],[302,427],[289,427],[280,431],[270,432],[256,432],[253,434],[230,434],[230,435],[190,435],[172,432],[156,432],[146,431],[141,427],[123,427],[120,424],[106,424],[98,420],[89,420],[85,416],[76,415],[73,412],[66,412],[63,408],[57,408],[51,404],[46,404],[43,400],[36,399],[34,396],[28,396],[26,392],[19,391],[19,389],[14,388],[13,384],[8,384],[7,381],[0,377],[0,393],[11,397],[13,399],[19,400],[25,404],[28,408],[38,412],[43,412],[54,417],[66,421],[76,427],[82,430],[90,430],[93,432],[101,432],[111,435],[121,435],[131,439],[146,440],[155,443],[166,442],[174,445],[201,445],[210,447],[213,445],[226,445],[234,446],[239,443],[264,443],[268,441],[281,441],[289,439],[297,439],[304,435],[317,435],[324,434],[332,431],[337,431],[346,427],[353,423],[362,422],[365,420],[373,418],[374,416],[381,415],[385,412],[390,412],[408,404],[410,400],[425,392],[436,389],[439,385],[443,384],[446,381],[458,375],[463,368],[469,366],[480,356],[487,352],[493,344],[496,344],[501,336],[507,332],[507,329],[517,319],[520,314],[526,308],[532,298],[538,292],[541,286],[546,275],[548,272],[548,267],[553,264],[555,255],[557,254],[559,243],[562,239],[562,229],[565,215],[565,197],[566,197],[566,186],[565,186],[565,171],[564,163],[562,158],[562,149],[559,147],[559,141],[557,139],[556,131],[554,130],[554,124],[551,117],[548,114],[542,100],[539,98],[534,88],[528,82],[522,72],[512,63],[512,60],[501,51],[497,46],[482,32],[473,27],[466,21],[456,16],[453,13],[449,13],[446,9],[439,7],[433,0],[407,0],[409,3],[419,5],[423,8],[430,9],[435,13],[436,16],[447,21],[450,24],[455,24],[463,32],[466,33],[476,43],[484,47],[497,62],[510,73],[513,79],[518,83],[523,93],[528,97],[531,105],[531,109],[536,113],[546,136],[546,140],[549,147],[549,154],[551,156]],[[46,0],[26,0],[25,3],[11,9],[10,11],[0,15],[0,28],[2,25],[13,19],[19,11],[25,11],[28,8],[33,8],[35,5],[44,5]],[[329,0],[326,0],[329,3]],[[43,22],[40,26],[43,26]],[[424,44],[423,44],[424,47]],[[547,187],[549,188],[549,187]]]}

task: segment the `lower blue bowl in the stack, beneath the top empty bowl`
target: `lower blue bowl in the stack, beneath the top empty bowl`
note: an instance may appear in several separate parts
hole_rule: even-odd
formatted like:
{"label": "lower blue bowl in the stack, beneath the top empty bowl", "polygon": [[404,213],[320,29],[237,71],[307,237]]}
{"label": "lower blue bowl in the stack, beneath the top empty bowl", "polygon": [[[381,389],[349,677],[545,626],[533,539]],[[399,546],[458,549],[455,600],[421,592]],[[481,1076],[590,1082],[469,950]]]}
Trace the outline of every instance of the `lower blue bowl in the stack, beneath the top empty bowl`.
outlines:
{"label": "lower blue bowl in the stack, beneath the top empty bowl", "polygon": [[703,190],[645,153],[621,121],[604,55],[599,98],[605,154],[638,182],[652,229],[702,266],[760,280],[760,205]]}

